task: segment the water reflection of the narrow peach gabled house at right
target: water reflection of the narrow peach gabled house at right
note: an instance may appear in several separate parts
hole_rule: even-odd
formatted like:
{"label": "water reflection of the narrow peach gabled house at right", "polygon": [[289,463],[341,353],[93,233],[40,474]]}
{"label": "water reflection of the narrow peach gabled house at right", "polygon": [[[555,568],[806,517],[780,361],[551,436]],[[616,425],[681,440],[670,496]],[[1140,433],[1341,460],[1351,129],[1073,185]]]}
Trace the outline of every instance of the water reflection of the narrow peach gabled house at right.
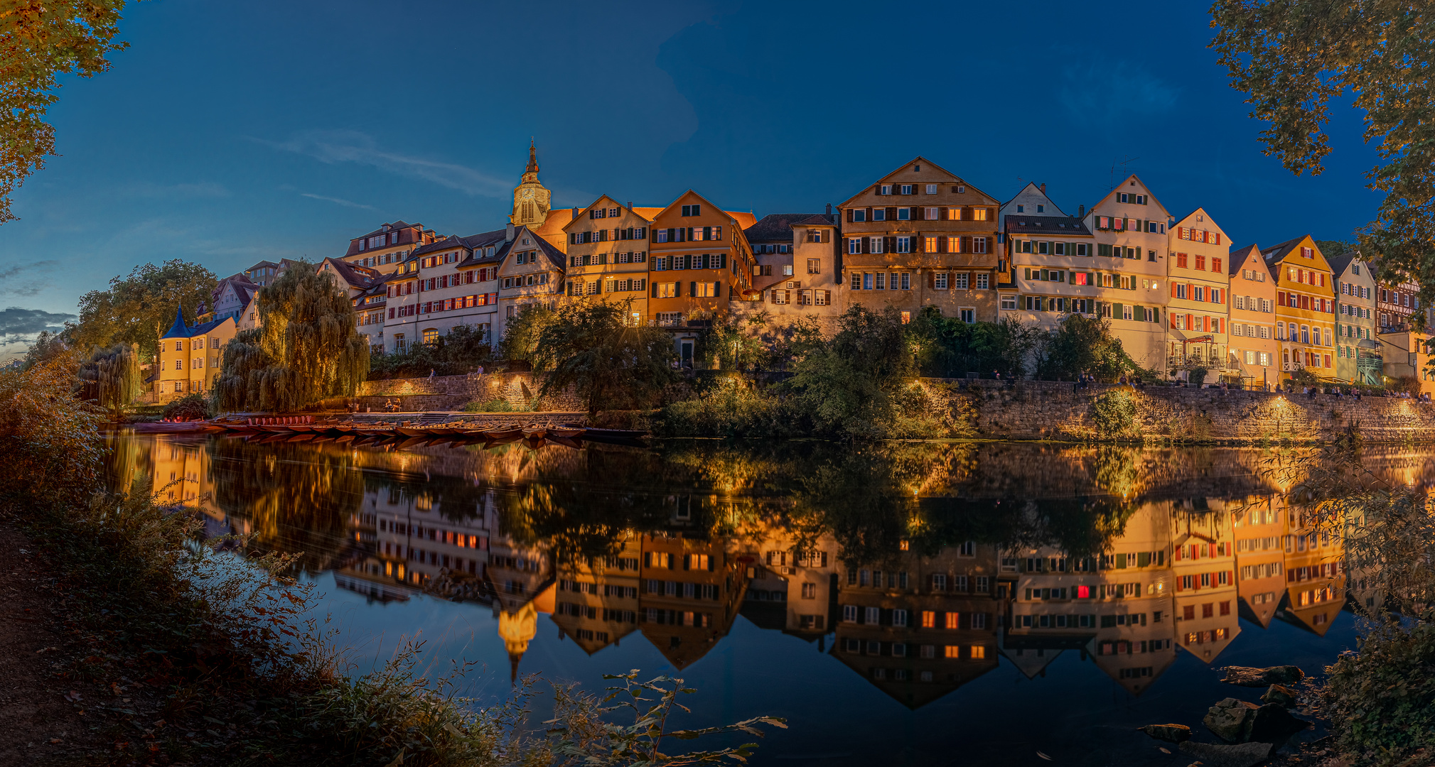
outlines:
{"label": "water reflection of the narrow peach gabled house at right", "polygon": [[1236,538],[1236,592],[1241,616],[1270,627],[1286,591],[1284,496],[1253,497],[1231,518]]}

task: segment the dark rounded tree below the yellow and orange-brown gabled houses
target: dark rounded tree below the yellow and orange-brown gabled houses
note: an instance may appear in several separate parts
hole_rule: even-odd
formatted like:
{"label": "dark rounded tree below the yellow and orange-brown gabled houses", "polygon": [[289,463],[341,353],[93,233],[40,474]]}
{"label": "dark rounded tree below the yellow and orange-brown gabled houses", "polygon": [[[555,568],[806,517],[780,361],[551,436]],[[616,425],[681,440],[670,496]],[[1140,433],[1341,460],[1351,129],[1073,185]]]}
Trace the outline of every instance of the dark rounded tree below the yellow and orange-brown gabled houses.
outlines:
{"label": "dark rounded tree below the yellow and orange-brown gabled houses", "polygon": [[627,324],[630,311],[631,300],[587,300],[552,313],[532,357],[535,368],[552,371],[540,396],[573,387],[588,414],[597,414],[614,397],[662,391],[674,381],[673,337],[651,325]]}

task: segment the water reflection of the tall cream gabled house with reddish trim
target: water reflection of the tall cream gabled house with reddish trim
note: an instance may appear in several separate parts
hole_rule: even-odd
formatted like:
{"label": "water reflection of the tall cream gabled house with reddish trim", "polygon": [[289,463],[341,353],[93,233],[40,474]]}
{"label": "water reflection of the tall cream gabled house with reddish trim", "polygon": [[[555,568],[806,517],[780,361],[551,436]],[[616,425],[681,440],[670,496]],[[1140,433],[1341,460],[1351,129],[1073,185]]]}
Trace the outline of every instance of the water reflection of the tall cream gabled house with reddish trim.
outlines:
{"label": "water reflection of the tall cream gabled house with reddish trim", "polygon": [[1215,499],[1172,503],[1177,642],[1210,664],[1240,634],[1231,515]]}

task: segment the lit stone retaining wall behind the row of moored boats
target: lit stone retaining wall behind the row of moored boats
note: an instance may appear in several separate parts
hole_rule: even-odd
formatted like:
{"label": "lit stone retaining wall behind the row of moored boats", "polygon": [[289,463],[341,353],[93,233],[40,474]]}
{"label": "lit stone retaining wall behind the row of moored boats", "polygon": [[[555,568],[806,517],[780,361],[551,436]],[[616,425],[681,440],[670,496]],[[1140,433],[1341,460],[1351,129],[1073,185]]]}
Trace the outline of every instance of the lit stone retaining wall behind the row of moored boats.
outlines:
{"label": "lit stone retaining wall behind the row of moored boats", "polygon": [[390,399],[399,409],[461,410],[471,401],[504,400],[525,410],[583,410],[583,401],[571,391],[537,401],[542,389],[542,374],[534,373],[472,373],[468,376],[435,376],[432,378],[389,378],[364,381],[359,387],[360,407],[382,409]]}

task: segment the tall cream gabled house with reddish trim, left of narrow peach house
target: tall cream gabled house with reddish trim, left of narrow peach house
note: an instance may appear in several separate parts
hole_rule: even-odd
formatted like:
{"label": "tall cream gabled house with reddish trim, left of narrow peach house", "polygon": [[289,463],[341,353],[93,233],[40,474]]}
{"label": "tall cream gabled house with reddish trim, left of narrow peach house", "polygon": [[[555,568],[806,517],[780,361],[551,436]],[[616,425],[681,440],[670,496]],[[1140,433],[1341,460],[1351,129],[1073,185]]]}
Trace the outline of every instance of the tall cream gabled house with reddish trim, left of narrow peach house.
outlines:
{"label": "tall cream gabled house with reddish trim, left of narrow peach house", "polygon": [[[1197,208],[1167,232],[1167,366],[1233,377],[1238,368],[1227,354],[1231,278],[1227,271],[1230,239]],[[1201,381],[1190,381],[1201,386]]]}

